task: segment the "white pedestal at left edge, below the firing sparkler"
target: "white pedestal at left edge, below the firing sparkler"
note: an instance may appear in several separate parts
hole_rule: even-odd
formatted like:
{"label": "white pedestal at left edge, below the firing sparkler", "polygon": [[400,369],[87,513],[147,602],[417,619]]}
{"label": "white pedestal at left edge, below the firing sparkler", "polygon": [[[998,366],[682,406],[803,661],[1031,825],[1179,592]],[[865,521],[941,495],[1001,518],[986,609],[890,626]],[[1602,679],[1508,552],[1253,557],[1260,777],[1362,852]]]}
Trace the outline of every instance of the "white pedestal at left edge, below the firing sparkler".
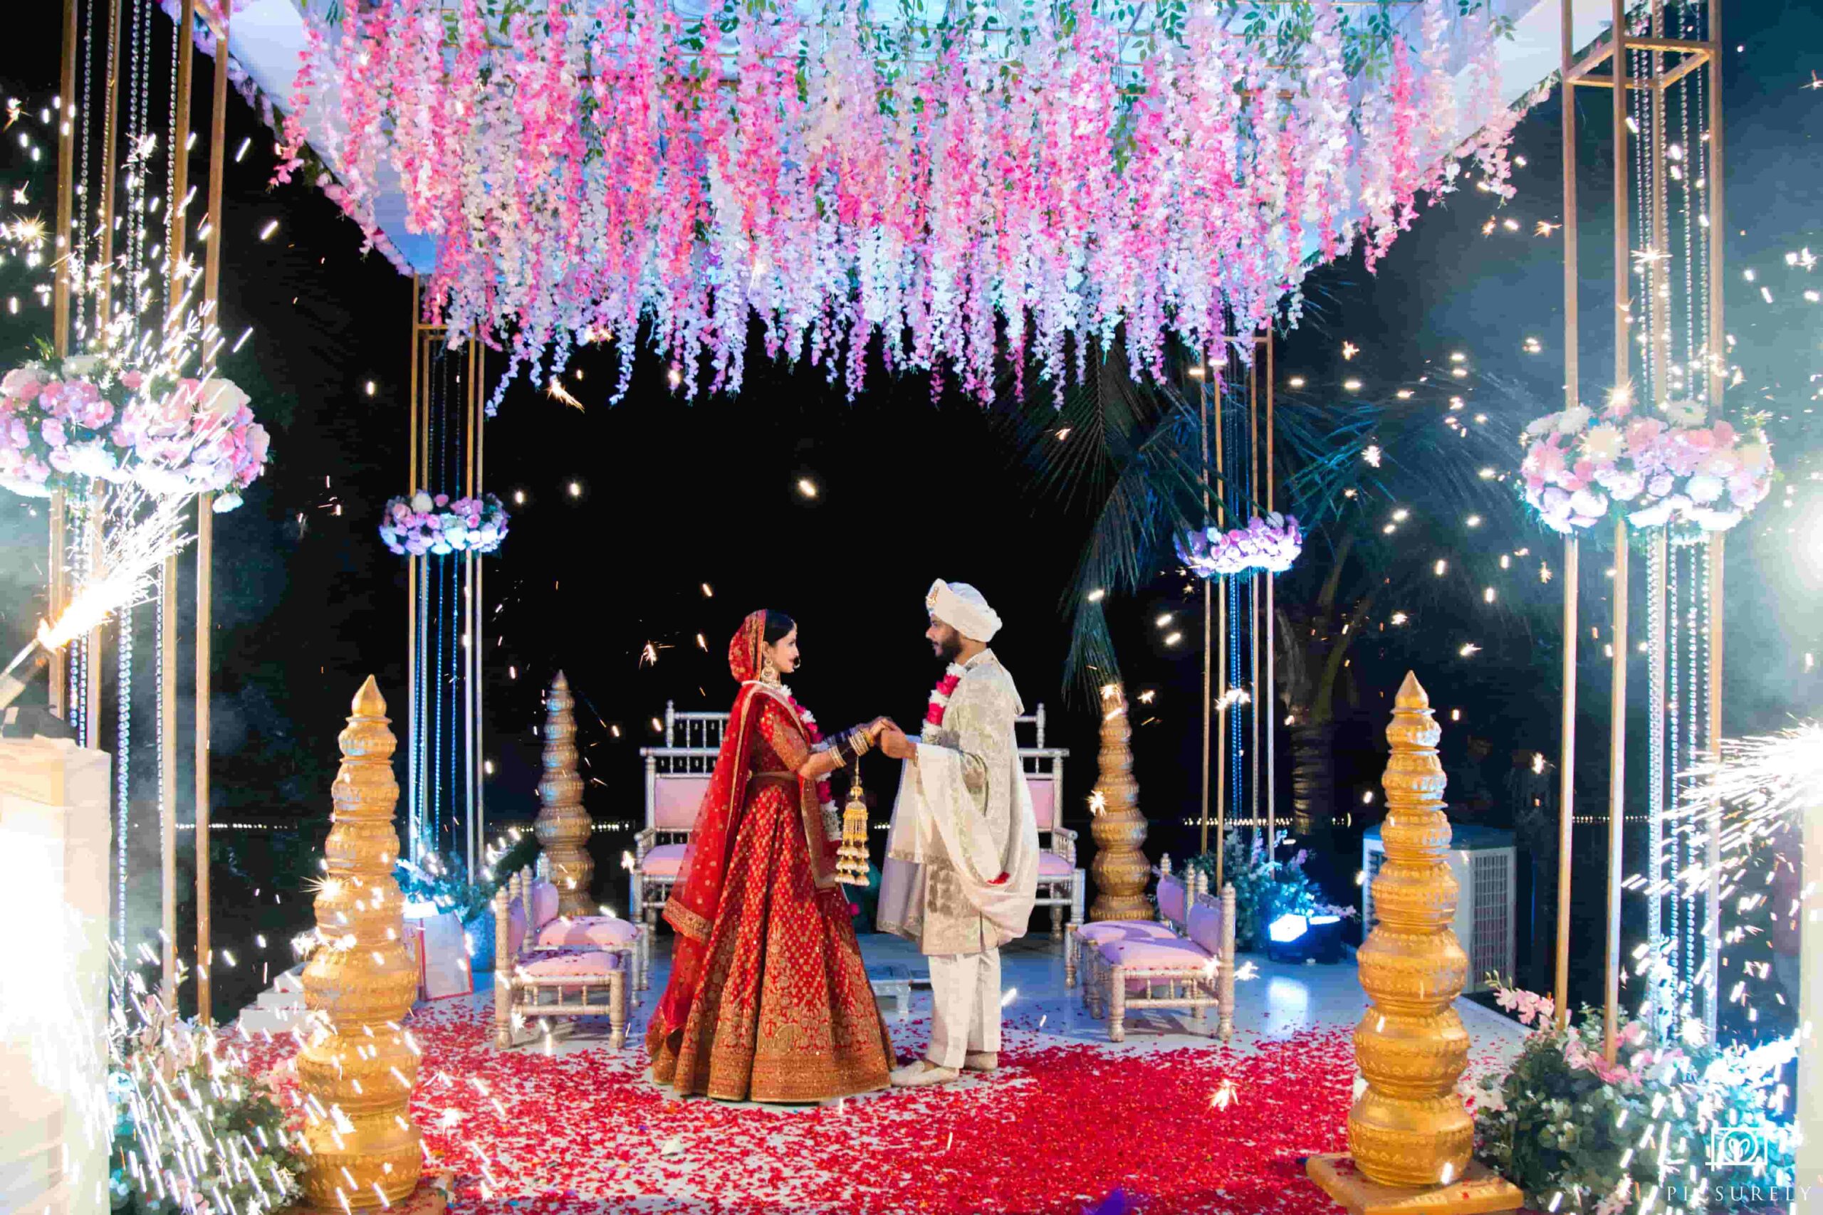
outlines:
{"label": "white pedestal at left edge, below the firing sparkler", "polygon": [[108,769],[0,740],[0,1211],[108,1211]]}

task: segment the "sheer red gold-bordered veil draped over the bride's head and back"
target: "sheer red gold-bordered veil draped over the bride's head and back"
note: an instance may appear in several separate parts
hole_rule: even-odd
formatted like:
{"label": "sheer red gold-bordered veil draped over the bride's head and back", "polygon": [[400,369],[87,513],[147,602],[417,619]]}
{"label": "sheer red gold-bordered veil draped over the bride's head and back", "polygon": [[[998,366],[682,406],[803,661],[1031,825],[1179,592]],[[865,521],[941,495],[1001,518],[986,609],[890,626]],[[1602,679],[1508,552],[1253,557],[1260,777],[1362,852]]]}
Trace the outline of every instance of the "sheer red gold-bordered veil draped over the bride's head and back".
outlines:
{"label": "sheer red gold-bordered veil draped over the bride's head and back", "polygon": [[[753,681],[760,674],[760,647],[764,643],[766,612],[753,612],[740,623],[740,630],[727,645],[727,667],[740,681],[740,690],[727,712],[727,729],[722,732],[722,750],[715,758],[715,774],[709,778],[709,789],[696,809],[696,825],[691,829],[676,885],[671,887],[671,898],[665,904],[665,922],[676,929],[671,982],[665,985],[656,1013],[664,1026],[660,1033],[665,1035],[684,1027],[696,998],[696,985],[702,980],[709,931],[715,927],[715,916],[722,905],[722,882],[727,874],[733,832],[738,827],[736,816],[747,796],[747,778],[753,774],[751,752],[753,738],[758,734],[757,714],[764,710],[766,698],[784,707],[791,725],[804,732],[804,723],[789,703]],[[809,745],[808,734],[804,745]],[[822,811],[813,781],[798,780],[798,807],[804,818],[811,876],[819,889],[833,889],[835,876],[828,847],[822,842]]]}

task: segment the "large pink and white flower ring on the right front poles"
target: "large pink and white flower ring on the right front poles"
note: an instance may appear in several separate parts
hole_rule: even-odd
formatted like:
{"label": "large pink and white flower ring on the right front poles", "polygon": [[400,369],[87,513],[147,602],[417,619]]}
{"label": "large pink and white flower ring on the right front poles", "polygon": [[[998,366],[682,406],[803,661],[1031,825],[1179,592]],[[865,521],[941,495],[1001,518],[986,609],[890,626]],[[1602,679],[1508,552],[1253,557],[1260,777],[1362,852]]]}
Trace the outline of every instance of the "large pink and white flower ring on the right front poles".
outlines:
{"label": "large pink and white flower ring on the right front poles", "polygon": [[1579,404],[1533,421],[1520,439],[1526,503],[1562,534],[1610,514],[1686,537],[1726,532],[1772,490],[1772,444],[1757,426],[1743,434],[1688,401],[1663,414],[1641,417],[1619,399],[1601,414]]}

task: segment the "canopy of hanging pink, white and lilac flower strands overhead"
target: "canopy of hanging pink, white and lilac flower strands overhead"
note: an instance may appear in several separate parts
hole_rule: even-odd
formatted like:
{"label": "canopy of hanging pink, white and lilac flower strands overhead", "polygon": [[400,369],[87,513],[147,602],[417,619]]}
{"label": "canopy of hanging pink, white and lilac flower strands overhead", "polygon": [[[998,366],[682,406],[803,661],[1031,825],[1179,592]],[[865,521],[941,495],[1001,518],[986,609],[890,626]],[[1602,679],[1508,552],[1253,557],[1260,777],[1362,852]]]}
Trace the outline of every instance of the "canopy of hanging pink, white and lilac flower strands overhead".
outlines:
{"label": "canopy of hanging pink, white and lilac flower strands overhead", "polygon": [[540,375],[645,326],[675,386],[738,392],[749,319],[850,393],[875,339],[981,401],[997,357],[1023,392],[1026,359],[1057,383],[1088,341],[1156,373],[1167,335],[1294,319],[1353,240],[1373,264],[1458,157],[1509,193],[1500,26],[1462,0],[1411,38],[1409,9],[1333,0],[527,7],[312,24],[281,175],[334,106],[317,182],[370,239],[403,191],[436,242],[427,310]]}

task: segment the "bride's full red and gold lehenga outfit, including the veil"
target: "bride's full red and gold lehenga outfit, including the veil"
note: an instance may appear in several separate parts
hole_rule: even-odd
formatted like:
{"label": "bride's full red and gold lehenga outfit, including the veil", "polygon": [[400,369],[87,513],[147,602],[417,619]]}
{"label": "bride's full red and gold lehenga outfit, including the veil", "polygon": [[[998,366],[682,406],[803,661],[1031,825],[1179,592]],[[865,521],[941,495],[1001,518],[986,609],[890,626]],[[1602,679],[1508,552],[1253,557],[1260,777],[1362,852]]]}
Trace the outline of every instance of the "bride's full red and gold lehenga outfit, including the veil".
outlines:
{"label": "bride's full red and gold lehenga outfit, including the veil", "polygon": [[893,1051],[817,781],[797,776],[813,729],[757,679],[764,627],[755,612],[729,645],[740,692],[665,904],[671,982],[645,1047],[678,1093],[815,1102],[886,1087]]}

